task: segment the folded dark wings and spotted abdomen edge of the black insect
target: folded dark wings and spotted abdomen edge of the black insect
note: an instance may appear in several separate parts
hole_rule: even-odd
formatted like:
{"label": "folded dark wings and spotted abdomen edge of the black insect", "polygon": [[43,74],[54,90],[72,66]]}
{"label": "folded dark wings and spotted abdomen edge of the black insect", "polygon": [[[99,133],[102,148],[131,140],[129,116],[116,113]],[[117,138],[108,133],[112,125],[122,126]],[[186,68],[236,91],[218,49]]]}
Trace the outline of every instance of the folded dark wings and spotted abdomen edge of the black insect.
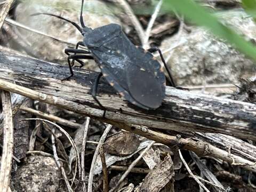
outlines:
{"label": "folded dark wings and spotted abdomen edge of the black insect", "polygon": [[145,109],[158,108],[165,95],[165,76],[158,61],[135,47],[121,30],[100,47],[91,47],[103,76],[125,99]]}

